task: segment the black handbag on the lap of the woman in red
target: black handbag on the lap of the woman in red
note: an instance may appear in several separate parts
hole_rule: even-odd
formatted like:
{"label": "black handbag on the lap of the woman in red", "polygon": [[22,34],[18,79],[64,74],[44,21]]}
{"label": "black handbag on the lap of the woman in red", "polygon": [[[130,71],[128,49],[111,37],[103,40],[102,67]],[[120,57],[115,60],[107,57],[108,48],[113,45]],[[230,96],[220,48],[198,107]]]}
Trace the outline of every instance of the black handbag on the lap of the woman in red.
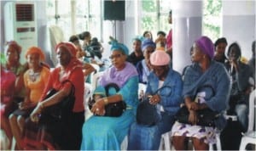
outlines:
{"label": "black handbag on the lap of the woman in red", "polygon": [[[71,81],[63,81],[62,84],[65,82],[70,82],[72,84],[72,90],[71,90],[70,94],[66,98],[63,98],[61,100],[61,102],[55,103],[48,107],[45,107],[42,110],[42,114],[41,114],[42,118],[61,120],[62,117],[64,117],[64,116],[67,117],[67,115],[70,115],[72,113],[73,105],[74,105],[74,101],[75,101],[75,95],[74,95],[75,87],[73,86],[73,83]],[[54,88],[49,90],[49,92],[47,93],[47,95],[44,99],[53,96],[56,92],[58,92],[58,91],[56,91]],[[40,118],[40,120],[42,118]]]}

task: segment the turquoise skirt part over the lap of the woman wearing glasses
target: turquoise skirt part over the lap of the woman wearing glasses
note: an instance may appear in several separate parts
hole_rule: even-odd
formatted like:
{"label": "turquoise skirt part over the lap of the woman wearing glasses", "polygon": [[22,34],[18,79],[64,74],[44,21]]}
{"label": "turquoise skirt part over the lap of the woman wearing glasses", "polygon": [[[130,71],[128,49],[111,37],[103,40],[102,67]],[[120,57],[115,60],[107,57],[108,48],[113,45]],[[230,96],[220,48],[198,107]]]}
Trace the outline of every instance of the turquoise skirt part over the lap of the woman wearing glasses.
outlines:
{"label": "turquoise skirt part over the lap of the woman wearing glasses", "polygon": [[131,111],[117,118],[91,116],[83,126],[81,149],[119,149],[134,119]]}

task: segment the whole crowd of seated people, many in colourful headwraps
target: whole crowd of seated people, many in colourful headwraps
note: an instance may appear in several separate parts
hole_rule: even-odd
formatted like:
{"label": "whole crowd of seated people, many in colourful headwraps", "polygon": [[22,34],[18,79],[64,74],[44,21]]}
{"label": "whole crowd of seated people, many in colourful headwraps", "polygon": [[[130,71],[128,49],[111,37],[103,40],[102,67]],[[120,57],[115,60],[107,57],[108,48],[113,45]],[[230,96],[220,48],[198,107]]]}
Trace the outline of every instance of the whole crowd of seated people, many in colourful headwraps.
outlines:
{"label": "whole crowd of seated people, many in colourful headwraps", "polygon": [[[226,126],[224,114],[237,115],[242,131],[247,131],[248,96],[255,88],[252,63],[253,59],[255,63],[255,42],[253,57],[245,64],[241,61],[238,42],[228,47],[224,37],[213,44],[209,37],[201,36],[188,50],[191,64],[184,67],[181,76],[172,69],[172,58],[166,53],[166,35],[161,31],[159,34],[154,40],[152,33],[145,31],[143,38],[132,39],[131,51],[124,43],[111,39],[108,57],[112,64],[101,69],[103,74],[96,82],[96,91],[109,83],[117,84],[119,91],[97,98],[88,120],[84,118],[84,108],[88,108],[84,106],[84,83],[91,81],[84,77],[95,71],[91,64],[101,65],[103,50],[96,38],[91,39],[89,31],[70,36],[69,42],[58,43],[55,51],[59,64],[51,72],[40,48],[32,46],[24,50],[26,56],[20,56],[20,45],[7,42],[6,61],[1,62],[1,129],[10,141],[15,137],[18,150],[120,150],[125,137],[129,150],[157,150],[161,135],[167,131],[171,131],[172,144],[177,150],[188,149],[189,139],[195,149],[207,150],[210,144],[216,143],[217,129],[221,131]],[[92,52],[88,52],[91,47]],[[21,57],[26,58],[26,64],[20,64]],[[154,126],[137,123],[139,83],[147,87],[143,97],[150,96],[150,103],[160,113],[161,120]],[[206,85],[211,85],[211,89]],[[152,95],[165,86],[171,88]],[[46,98],[52,88],[55,94]],[[195,102],[199,88],[204,96]],[[44,110],[72,92],[73,109],[61,120],[43,122]],[[122,115],[105,116],[106,106],[120,101],[126,104]],[[189,109],[189,124],[175,119],[182,104]],[[221,115],[215,126],[196,125],[197,112],[201,109],[212,109]]]}

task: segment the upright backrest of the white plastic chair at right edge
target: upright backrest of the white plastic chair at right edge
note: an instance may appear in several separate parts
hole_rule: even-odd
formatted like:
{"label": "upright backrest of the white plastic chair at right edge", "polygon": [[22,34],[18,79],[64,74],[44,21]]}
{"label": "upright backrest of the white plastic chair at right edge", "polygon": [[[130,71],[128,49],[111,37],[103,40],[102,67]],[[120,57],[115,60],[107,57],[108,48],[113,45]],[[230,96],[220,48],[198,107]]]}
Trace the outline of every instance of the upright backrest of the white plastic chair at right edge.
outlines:
{"label": "upright backrest of the white plastic chair at right edge", "polygon": [[249,114],[248,114],[248,119],[249,119],[249,123],[248,123],[248,130],[247,131],[253,131],[253,126],[254,126],[254,122],[255,122],[255,101],[256,101],[256,97],[255,97],[255,89],[250,93],[250,98],[249,98]]}

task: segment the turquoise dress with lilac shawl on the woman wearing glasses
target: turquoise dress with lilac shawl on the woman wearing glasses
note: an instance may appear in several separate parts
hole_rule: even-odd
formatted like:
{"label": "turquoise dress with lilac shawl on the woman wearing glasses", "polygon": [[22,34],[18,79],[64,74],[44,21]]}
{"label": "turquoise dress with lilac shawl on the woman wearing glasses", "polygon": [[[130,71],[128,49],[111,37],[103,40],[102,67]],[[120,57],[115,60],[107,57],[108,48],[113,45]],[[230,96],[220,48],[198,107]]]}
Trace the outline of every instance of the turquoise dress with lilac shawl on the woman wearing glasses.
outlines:
{"label": "turquoise dress with lilac shawl on the woman wearing glasses", "polygon": [[119,117],[96,116],[84,122],[83,141],[81,150],[120,150],[120,144],[128,134],[131,123],[135,121],[138,96],[138,76],[136,68],[126,63],[125,69],[116,70],[114,67],[105,71],[99,80],[104,87],[110,82],[119,85],[118,94],[126,103],[125,112]]}

